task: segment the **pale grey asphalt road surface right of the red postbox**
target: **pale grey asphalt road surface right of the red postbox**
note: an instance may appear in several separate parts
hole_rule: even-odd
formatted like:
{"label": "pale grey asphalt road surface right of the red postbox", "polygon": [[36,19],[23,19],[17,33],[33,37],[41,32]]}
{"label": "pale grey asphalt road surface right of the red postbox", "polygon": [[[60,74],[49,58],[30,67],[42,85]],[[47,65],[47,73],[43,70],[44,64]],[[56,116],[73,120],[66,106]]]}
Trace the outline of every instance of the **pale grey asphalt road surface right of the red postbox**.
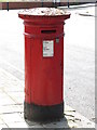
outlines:
{"label": "pale grey asphalt road surface right of the red postbox", "polygon": [[[95,118],[95,20],[96,8],[74,6],[65,27],[65,95],[67,104],[94,121]],[[67,10],[67,9],[65,9]]]}

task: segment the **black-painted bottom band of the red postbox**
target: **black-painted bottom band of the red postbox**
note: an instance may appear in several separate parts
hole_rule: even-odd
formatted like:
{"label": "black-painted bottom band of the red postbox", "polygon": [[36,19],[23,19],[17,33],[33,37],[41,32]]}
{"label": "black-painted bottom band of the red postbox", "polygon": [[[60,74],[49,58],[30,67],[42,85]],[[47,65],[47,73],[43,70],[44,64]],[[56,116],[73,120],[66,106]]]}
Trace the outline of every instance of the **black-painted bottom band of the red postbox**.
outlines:
{"label": "black-painted bottom band of the red postbox", "polygon": [[24,117],[30,121],[51,121],[64,118],[64,102],[53,106],[24,103]]}

